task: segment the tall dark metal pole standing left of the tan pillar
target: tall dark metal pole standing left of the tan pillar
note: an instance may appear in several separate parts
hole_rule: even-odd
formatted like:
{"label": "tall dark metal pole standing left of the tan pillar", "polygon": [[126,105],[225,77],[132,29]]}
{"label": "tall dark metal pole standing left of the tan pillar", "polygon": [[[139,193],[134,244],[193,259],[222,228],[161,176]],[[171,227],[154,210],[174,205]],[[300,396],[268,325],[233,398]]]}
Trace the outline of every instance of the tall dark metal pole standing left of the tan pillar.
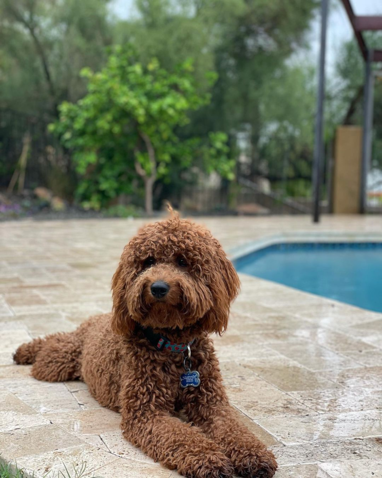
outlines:
{"label": "tall dark metal pole standing left of the tan pillar", "polygon": [[319,61],[319,76],[317,90],[316,128],[314,137],[314,154],[312,170],[313,188],[313,221],[320,220],[320,182],[321,164],[324,153],[324,98],[325,98],[325,53],[326,53],[326,26],[329,0],[321,0],[321,46]]}

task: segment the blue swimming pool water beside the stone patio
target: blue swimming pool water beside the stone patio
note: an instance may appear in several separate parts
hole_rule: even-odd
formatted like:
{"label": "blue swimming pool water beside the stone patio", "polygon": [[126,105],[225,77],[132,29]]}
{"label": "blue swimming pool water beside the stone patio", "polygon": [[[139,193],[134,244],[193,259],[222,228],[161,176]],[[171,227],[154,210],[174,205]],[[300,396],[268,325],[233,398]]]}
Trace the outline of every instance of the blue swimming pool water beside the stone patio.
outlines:
{"label": "blue swimming pool water beside the stone patio", "polygon": [[382,312],[382,243],[275,244],[234,263],[238,272]]}

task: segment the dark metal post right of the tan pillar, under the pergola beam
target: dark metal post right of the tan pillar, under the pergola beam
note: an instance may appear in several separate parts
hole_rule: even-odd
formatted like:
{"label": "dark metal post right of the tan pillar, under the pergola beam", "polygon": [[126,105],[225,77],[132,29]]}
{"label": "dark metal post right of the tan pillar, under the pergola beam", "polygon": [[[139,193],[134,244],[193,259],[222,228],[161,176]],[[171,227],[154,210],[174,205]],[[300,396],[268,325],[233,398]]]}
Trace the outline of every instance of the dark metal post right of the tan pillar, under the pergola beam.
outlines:
{"label": "dark metal post right of the tan pillar, under the pergola beam", "polygon": [[373,139],[374,75],[371,69],[372,58],[373,50],[368,50],[365,63],[365,84],[363,88],[363,139],[360,188],[361,214],[364,214],[367,209],[367,173],[370,171]]}

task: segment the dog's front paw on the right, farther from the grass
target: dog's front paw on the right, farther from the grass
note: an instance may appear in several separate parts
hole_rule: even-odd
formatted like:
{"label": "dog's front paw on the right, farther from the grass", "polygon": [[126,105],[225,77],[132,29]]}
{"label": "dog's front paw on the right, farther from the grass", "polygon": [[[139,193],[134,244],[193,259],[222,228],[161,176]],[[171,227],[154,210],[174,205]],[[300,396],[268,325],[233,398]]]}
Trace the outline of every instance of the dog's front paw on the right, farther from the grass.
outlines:
{"label": "dog's front paw on the right, farther from the grass", "polygon": [[235,470],[243,477],[271,478],[276,473],[277,463],[271,451],[256,450],[245,455],[234,462]]}

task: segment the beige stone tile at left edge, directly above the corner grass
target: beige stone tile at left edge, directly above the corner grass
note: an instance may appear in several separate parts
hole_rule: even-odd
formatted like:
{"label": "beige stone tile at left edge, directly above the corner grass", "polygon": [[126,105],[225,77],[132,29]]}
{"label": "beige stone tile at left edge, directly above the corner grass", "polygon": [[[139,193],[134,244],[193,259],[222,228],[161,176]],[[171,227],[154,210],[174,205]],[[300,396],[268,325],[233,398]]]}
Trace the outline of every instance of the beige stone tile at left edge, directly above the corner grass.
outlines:
{"label": "beige stone tile at left edge, directly above the corner grass", "polygon": [[0,433],[1,456],[11,460],[79,445],[74,435],[49,424]]}

